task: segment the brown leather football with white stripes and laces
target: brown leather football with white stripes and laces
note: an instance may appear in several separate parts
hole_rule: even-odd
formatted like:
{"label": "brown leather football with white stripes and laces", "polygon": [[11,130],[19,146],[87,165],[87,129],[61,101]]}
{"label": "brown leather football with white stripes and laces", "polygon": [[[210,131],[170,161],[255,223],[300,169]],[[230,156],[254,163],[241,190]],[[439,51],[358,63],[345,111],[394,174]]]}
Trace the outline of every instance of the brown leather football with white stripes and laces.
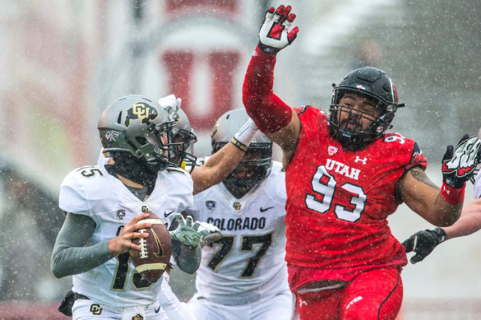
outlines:
{"label": "brown leather football with white stripes and laces", "polygon": [[132,243],[141,247],[141,250],[129,251],[136,270],[144,279],[156,282],[162,276],[172,255],[172,242],[170,235],[162,220],[152,211],[147,211],[150,216],[139,222],[150,222],[152,226],[139,229],[137,232],[149,234],[147,238],[132,239]]}

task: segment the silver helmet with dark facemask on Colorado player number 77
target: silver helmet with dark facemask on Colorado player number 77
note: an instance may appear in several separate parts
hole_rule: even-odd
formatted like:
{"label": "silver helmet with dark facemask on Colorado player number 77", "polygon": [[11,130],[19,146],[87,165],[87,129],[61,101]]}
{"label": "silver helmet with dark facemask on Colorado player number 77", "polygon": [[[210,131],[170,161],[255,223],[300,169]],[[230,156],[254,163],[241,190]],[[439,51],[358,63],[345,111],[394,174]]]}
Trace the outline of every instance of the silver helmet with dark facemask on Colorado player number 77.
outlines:
{"label": "silver helmet with dark facemask on Colorado player number 77", "polygon": [[[212,153],[230,142],[249,119],[244,108],[235,109],[223,114],[212,131]],[[246,193],[261,183],[272,169],[272,141],[262,132],[257,131],[250,142],[247,152],[236,169],[222,182],[230,190]]]}

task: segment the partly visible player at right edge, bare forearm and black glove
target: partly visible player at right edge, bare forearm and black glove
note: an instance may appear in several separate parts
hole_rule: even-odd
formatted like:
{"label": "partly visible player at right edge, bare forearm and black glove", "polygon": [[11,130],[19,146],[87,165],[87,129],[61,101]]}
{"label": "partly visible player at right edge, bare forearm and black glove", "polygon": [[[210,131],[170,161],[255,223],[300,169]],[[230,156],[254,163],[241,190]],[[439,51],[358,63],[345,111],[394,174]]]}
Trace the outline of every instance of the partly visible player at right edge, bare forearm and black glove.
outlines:
{"label": "partly visible player at right edge, bare forearm and black glove", "polygon": [[[478,139],[481,139],[481,128],[478,131]],[[440,243],[457,237],[463,237],[475,233],[481,229],[481,165],[474,171],[471,182],[474,184],[475,200],[463,206],[458,221],[450,227],[434,228],[433,230],[418,231],[402,244],[406,252],[414,252],[411,263],[422,261]]]}

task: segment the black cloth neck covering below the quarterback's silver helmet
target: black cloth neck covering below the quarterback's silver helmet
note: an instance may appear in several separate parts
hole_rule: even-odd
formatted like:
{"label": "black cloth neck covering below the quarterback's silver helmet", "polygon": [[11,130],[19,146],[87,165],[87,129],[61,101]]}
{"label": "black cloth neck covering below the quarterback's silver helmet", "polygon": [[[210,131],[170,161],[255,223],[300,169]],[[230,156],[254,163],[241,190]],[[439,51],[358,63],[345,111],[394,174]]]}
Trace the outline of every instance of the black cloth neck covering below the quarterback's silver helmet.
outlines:
{"label": "black cloth neck covering below the quarterback's silver helmet", "polygon": [[160,166],[150,164],[144,158],[136,158],[128,152],[118,152],[113,156],[113,171],[145,187],[154,187]]}

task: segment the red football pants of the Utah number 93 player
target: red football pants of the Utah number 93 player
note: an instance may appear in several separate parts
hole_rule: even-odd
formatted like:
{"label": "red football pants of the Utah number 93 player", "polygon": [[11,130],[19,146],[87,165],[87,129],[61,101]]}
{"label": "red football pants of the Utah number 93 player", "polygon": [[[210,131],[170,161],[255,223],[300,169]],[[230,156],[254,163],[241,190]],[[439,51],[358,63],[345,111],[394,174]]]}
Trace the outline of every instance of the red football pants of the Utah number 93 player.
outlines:
{"label": "red football pants of the Utah number 93 player", "polygon": [[401,274],[397,268],[373,269],[345,287],[296,296],[301,320],[394,320],[401,309]]}

